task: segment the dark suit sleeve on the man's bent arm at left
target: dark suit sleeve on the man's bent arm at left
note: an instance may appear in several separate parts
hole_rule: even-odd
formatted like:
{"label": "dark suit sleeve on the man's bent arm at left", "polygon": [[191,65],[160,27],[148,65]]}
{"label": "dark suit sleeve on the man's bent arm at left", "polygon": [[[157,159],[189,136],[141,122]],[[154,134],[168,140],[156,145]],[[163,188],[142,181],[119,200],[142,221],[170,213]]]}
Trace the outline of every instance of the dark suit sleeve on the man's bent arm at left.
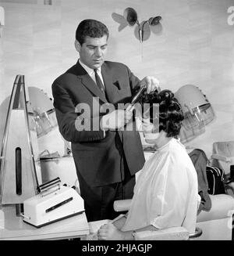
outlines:
{"label": "dark suit sleeve on the man's bent arm at left", "polygon": [[[81,115],[78,116],[69,93],[57,81],[52,85],[52,94],[59,132],[64,139],[69,142],[92,142],[105,138],[105,132],[100,128],[100,117],[93,117],[88,120],[90,121],[90,131],[79,131],[77,129]],[[95,122],[99,125],[99,129],[92,131],[92,124]]]}

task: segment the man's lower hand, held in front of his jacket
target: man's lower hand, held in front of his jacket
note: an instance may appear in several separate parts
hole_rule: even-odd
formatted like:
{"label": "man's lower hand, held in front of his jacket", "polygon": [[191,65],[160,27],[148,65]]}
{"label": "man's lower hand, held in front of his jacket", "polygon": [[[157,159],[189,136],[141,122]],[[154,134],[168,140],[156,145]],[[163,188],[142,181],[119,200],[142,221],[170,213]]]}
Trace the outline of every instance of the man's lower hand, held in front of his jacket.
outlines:
{"label": "man's lower hand, held in front of his jacket", "polygon": [[114,110],[101,118],[101,128],[105,131],[123,128],[132,116],[132,110]]}

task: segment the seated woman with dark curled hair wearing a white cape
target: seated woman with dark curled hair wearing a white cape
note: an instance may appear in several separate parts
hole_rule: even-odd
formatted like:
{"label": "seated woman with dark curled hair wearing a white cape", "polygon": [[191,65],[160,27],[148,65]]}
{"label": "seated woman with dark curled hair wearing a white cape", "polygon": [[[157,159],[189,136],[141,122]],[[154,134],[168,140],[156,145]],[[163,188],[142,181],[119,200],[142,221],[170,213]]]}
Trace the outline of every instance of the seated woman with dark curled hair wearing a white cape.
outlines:
{"label": "seated woman with dark curled hair wearing a white cape", "polygon": [[178,139],[183,121],[181,106],[168,90],[155,93],[148,103],[159,104],[159,128],[151,124],[151,133],[149,129],[144,133],[146,142],[153,143],[156,152],[140,171],[128,213],[102,225],[98,240],[133,240],[134,231],[179,226],[195,232],[197,172]]}

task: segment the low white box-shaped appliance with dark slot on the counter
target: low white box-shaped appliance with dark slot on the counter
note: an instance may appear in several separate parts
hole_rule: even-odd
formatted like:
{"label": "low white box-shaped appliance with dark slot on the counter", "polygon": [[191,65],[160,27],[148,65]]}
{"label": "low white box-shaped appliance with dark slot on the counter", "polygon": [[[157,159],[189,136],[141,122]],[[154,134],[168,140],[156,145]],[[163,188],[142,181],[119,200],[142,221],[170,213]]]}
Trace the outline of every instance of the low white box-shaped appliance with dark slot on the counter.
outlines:
{"label": "low white box-shaped appliance with dark slot on the counter", "polygon": [[83,198],[75,189],[60,186],[60,178],[39,186],[36,196],[23,201],[23,222],[37,228],[83,213]]}

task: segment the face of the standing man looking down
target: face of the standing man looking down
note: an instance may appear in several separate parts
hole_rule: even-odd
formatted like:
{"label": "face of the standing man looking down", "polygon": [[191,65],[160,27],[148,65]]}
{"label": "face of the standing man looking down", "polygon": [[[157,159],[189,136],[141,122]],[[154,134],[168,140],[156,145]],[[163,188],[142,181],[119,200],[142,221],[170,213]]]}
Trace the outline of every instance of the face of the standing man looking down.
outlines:
{"label": "face of the standing man looking down", "polygon": [[86,37],[83,45],[80,45],[78,41],[75,45],[77,52],[80,53],[82,63],[91,69],[101,67],[107,52],[107,35],[102,38]]}

